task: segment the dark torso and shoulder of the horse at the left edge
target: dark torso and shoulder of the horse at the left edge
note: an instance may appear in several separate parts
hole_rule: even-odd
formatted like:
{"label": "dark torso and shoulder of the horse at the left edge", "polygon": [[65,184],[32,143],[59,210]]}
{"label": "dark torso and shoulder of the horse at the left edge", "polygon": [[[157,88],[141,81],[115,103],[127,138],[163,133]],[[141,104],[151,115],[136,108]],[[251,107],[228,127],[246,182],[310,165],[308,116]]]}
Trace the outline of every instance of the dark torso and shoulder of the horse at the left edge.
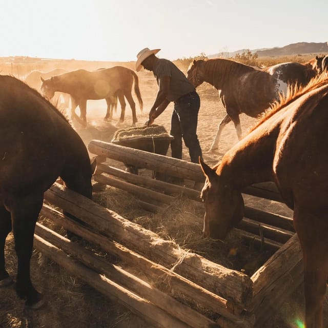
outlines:
{"label": "dark torso and shoulder of the horse at the left edge", "polygon": [[2,199],[17,192],[44,192],[60,175],[69,154],[81,151],[88,156],[65,117],[11,76],[0,76],[0,140]]}

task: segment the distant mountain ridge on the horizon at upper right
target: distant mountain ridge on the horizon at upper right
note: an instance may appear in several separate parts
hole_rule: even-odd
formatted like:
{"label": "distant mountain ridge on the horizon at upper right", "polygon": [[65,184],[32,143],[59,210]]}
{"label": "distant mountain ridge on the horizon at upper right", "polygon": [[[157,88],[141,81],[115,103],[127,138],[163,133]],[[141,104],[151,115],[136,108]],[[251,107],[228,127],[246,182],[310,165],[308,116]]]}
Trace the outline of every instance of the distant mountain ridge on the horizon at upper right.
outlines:
{"label": "distant mountain ridge on the horizon at upper right", "polygon": [[[240,49],[233,52],[220,52],[213,55],[209,55],[209,58],[217,57],[234,57],[237,53],[241,54],[247,49]],[[298,42],[293,43],[284,47],[274,47],[274,48],[262,48],[253,49],[252,53],[257,53],[259,57],[263,56],[286,56],[286,55],[298,55],[307,53],[328,53],[328,43],[327,42]]]}

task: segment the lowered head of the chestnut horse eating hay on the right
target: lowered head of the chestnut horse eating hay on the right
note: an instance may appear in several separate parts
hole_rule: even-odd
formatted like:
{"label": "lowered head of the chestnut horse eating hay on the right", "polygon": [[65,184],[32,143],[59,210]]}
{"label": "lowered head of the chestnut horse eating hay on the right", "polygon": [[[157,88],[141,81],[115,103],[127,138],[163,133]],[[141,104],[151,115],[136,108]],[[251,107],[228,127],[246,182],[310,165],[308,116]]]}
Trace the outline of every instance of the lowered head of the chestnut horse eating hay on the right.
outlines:
{"label": "lowered head of the chestnut horse eating hay on the right", "polygon": [[206,176],[200,197],[205,204],[203,237],[224,239],[228,232],[243,218],[244,202],[240,191],[229,186],[215,169],[199,159]]}

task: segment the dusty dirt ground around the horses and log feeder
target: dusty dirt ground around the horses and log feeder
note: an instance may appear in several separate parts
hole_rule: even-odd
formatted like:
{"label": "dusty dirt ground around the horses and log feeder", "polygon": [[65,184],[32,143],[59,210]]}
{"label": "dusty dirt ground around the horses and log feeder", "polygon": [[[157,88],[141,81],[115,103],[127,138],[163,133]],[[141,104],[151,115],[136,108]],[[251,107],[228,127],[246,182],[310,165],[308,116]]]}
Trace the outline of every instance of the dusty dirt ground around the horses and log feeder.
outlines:
{"label": "dusty dirt ground around the horses and log feeder", "polygon": [[[151,72],[140,72],[138,76],[140,91],[144,100],[144,110],[140,112],[138,104],[136,104],[137,117],[138,125],[144,125],[157,92],[157,85]],[[217,91],[212,86],[203,84],[197,91],[201,99],[197,134],[203,151],[204,161],[209,165],[215,165],[224,152],[238,142],[237,134],[233,124],[230,123],[222,132],[219,152],[209,152],[218,123],[226,115],[226,112],[219,101]],[[173,105],[170,104],[166,111],[155,120],[156,124],[165,126],[168,132],[170,131],[172,109]],[[117,128],[127,128],[132,124],[131,110],[128,105],[125,123],[120,126],[116,125],[120,113],[119,105],[113,121],[105,122],[103,120],[105,113],[105,100],[88,101],[88,127],[82,129],[76,126],[76,130],[86,145],[92,139],[111,141]],[[240,121],[243,134],[245,134],[248,128],[256,122],[256,119],[242,114],[240,115]],[[170,155],[170,151],[168,155]],[[188,150],[185,147],[183,148],[183,159],[190,160]],[[278,202],[264,200],[259,202],[256,197],[247,197],[245,203],[248,206],[264,208],[281,215],[292,216],[292,211]],[[6,256],[8,270],[14,276],[16,272],[16,258],[11,235],[8,237]],[[18,300],[15,296],[12,286],[2,289],[0,290],[0,327],[151,328],[149,324],[133,315],[129,310],[94,291],[84,284],[83,281],[65,274],[64,270],[60,269],[58,265],[37,252],[34,252],[32,256],[31,267],[33,282],[46,295],[47,305],[38,311],[26,310],[24,302]],[[301,327],[303,308],[303,290],[302,286],[300,286],[289,299],[286,299],[279,313],[274,315],[265,327]]]}

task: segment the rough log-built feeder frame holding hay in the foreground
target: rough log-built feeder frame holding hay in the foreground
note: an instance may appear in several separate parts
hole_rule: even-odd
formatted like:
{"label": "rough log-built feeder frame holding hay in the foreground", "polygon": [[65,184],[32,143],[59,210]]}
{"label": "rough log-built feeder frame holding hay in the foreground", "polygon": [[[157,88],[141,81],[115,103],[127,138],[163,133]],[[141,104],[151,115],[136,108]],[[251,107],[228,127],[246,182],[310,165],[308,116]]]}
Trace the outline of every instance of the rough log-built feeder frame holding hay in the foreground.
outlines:
{"label": "rough log-built feeder frame holding hay in the foreground", "polygon": [[[105,161],[111,158],[138,168],[202,181],[197,164],[98,140],[92,140],[88,148],[98,155],[95,181],[138,195],[142,199],[140,205],[148,211],[157,211],[158,204],[169,203],[173,195],[181,193],[199,200],[199,191],[131,174],[110,167]],[[269,184],[252,186],[244,192],[280,200]],[[155,327],[262,327],[270,318],[268,313],[273,314],[303,279],[302,254],[291,218],[247,207],[239,227],[241,234],[276,251],[250,277],[183,251],[174,242],[64,190],[58,183],[45,193],[45,200],[85,224],[46,204],[42,215],[116,255],[156,283],[141,280],[39,223],[35,229],[36,249]],[[157,288],[161,285],[166,286],[166,293]],[[214,315],[204,315],[204,309]]]}

